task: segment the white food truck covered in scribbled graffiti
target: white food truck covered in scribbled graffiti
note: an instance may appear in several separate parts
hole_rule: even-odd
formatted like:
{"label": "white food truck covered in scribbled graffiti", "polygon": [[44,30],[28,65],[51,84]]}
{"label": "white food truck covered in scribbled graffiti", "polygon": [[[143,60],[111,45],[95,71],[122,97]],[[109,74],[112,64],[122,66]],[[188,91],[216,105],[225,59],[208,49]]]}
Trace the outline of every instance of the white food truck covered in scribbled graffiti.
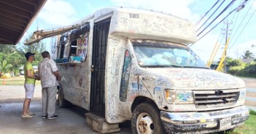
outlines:
{"label": "white food truck covered in scribbled graffiti", "polygon": [[191,22],[115,7],[79,24],[53,51],[61,106],[69,101],[108,125],[131,120],[141,134],[231,131],[248,119],[244,81],[210,70],[187,46],[197,41]]}

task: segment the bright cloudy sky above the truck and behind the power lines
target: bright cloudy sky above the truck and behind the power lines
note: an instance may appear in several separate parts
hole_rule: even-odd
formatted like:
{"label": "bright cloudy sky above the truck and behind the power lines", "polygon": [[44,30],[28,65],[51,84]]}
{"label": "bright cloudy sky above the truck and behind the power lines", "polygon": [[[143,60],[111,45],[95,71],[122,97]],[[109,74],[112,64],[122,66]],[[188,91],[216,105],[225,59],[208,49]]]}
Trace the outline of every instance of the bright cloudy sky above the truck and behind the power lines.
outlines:
{"label": "bright cloudy sky above the truck and behind the power lines", "polygon": [[[72,2],[72,3],[71,3]],[[79,5],[75,4],[79,3]],[[72,6],[72,4],[76,5],[75,7]],[[172,14],[177,17],[182,17],[187,20],[190,20],[192,22],[197,22],[200,17],[214,4],[209,6],[209,3],[206,4],[204,1],[198,1],[198,0],[182,0],[182,1],[174,1],[174,0],[102,0],[99,1],[64,1],[64,0],[47,0],[47,3],[44,5],[42,11],[39,13],[39,21],[40,23],[44,23],[47,25],[42,25],[44,28],[40,29],[46,29],[48,28],[48,25],[50,25],[50,28],[53,27],[60,27],[63,25],[70,25],[73,22],[76,22],[80,18],[78,17],[79,14],[92,14],[97,9],[101,9],[103,7],[107,6],[116,6],[116,7],[135,7],[135,8],[141,8],[141,9],[152,9],[159,12],[164,12],[168,14]],[[242,12],[239,12],[240,14],[247,11],[247,7],[249,7],[250,4],[247,4],[247,6],[242,10]],[[256,2],[253,5],[254,9],[256,9]],[[88,13],[89,12],[89,13]],[[252,13],[251,13],[252,14]],[[256,12],[255,12],[256,14]],[[86,15],[87,16],[87,15]],[[209,14],[207,17],[205,17],[202,22],[206,20],[206,18],[209,17]],[[213,17],[214,18],[214,17]],[[209,22],[212,21],[211,18]],[[217,22],[220,21],[222,17],[218,18],[216,22],[213,23],[213,25],[216,25]],[[252,31],[255,31],[256,26],[254,25],[254,20],[251,20],[252,25],[249,29]],[[238,22],[237,22],[238,24]],[[41,26],[41,25],[40,25]],[[248,25],[249,26],[249,25]],[[202,38],[200,41],[195,43],[191,49],[195,51],[196,54],[198,54],[201,59],[203,59],[204,62],[206,62],[209,59],[209,56],[212,53],[212,50],[214,49],[214,45],[217,41],[218,36],[222,33],[221,28],[223,27],[223,23],[218,25],[219,28],[214,28],[209,34],[207,34],[204,38]],[[197,27],[198,28],[198,27]],[[203,27],[204,28],[204,27]],[[201,28],[201,30],[203,30]],[[212,27],[210,27],[212,28]],[[206,28],[204,32],[207,32],[210,30],[210,28]],[[233,29],[235,30],[235,29]],[[200,32],[200,30],[199,30]],[[238,34],[238,33],[237,33]],[[202,33],[201,35],[204,35]],[[221,36],[223,38],[224,35]],[[228,56],[232,56],[233,58],[236,58],[236,56],[241,57],[242,54],[244,54],[244,51],[246,49],[251,50],[251,45],[255,44],[255,40],[250,40],[250,38],[255,38],[255,34],[249,33],[244,31],[243,34],[241,34],[240,39],[244,39],[244,43],[236,43],[235,46],[233,46],[232,49],[230,49],[230,53]],[[222,41],[222,44],[220,48],[224,47],[223,44],[224,41]],[[232,44],[231,44],[232,45]],[[256,55],[256,48],[253,48],[252,50],[255,51]],[[220,56],[222,54],[223,49],[219,49],[219,52],[217,56],[215,56],[215,60],[220,59]]]}

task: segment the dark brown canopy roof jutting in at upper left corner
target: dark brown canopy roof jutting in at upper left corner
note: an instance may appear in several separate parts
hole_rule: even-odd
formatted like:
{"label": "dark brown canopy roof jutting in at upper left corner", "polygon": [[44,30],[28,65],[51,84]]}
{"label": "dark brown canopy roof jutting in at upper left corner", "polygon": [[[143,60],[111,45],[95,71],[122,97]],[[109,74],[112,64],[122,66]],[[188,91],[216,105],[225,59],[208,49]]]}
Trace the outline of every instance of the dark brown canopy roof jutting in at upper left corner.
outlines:
{"label": "dark brown canopy roof jutting in at upper left corner", "polygon": [[0,0],[0,44],[15,45],[47,0]]}

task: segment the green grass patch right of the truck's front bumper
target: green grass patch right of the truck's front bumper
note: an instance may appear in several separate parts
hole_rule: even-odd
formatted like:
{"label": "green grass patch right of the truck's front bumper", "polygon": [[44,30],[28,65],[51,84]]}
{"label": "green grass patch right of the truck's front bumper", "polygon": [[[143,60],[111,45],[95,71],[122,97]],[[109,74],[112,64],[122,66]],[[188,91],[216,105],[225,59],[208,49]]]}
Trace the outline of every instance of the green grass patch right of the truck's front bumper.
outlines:
{"label": "green grass patch right of the truck's front bumper", "polygon": [[233,134],[255,134],[256,133],[256,112],[250,110],[249,120],[247,120],[244,125],[237,127]]}

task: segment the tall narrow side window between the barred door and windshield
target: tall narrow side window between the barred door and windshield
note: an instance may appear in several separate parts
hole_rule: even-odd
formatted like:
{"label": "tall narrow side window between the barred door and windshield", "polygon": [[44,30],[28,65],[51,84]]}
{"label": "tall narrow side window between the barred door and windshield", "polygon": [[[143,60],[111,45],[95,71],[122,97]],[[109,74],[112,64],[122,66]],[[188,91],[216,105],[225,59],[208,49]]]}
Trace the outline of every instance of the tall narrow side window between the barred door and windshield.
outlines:
{"label": "tall narrow side window between the barred door and windshield", "polygon": [[127,99],[127,90],[129,84],[131,72],[131,56],[128,50],[125,51],[125,59],[123,61],[123,72],[121,78],[121,85],[120,85],[120,101],[126,101]]}

